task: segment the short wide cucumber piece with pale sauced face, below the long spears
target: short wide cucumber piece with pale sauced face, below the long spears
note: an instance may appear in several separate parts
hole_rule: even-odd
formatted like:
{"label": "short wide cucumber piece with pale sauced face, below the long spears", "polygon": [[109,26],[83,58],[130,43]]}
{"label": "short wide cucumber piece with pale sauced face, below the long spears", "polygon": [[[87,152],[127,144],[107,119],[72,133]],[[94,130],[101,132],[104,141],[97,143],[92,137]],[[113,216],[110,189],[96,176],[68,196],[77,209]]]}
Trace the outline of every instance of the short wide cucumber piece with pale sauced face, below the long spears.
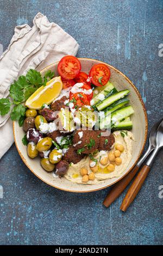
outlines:
{"label": "short wide cucumber piece with pale sauced face, below the long spears", "polygon": [[134,113],[134,109],[131,106],[127,106],[127,107],[118,109],[117,111],[115,111],[111,114],[111,123],[113,125],[118,124],[118,122],[129,117],[133,113]]}

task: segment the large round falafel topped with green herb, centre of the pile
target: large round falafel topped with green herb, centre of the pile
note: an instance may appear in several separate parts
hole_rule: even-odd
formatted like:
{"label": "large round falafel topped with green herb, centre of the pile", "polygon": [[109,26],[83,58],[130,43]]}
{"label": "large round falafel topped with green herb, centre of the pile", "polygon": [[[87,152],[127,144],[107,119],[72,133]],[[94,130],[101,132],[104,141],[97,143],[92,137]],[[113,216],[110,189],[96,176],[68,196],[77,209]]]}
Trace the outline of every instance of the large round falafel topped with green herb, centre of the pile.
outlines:
{"label": "large round falafel topped with green herb, centre of the pile", "polygon": [[73,147],[82,150],[82,154],[95,152],[99,146],[99,138],[96,131],[77,130],[74,132]]}

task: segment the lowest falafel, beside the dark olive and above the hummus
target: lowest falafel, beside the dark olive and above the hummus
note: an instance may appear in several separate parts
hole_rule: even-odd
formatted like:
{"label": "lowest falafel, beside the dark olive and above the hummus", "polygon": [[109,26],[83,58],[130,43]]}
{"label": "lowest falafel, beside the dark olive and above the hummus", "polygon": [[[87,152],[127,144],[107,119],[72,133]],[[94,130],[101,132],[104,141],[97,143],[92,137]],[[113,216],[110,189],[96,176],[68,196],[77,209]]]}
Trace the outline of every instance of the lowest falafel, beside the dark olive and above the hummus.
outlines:
{"label": "lowest falafel, beside the dark olive and above the hummus", "polygon": [[84,155],[78,155],[77,150],[73,146],[70,146],[62,157],[62,160],[66,160],[68,163],[78,163],[83,157]]}

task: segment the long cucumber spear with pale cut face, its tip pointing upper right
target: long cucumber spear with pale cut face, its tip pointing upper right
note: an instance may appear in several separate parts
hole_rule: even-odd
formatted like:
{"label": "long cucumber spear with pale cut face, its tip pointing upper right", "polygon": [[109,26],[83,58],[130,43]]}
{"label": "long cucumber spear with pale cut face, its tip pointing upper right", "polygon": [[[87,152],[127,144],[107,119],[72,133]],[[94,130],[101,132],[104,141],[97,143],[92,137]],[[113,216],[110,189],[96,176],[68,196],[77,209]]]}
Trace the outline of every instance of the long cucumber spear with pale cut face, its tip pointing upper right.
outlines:
{"label": "long cucumber spear with pale cut face, its tip pointing upper right", "polygon": [[101,111],[104,108],[110,106],[117,100],[123,99],[123,97],[129,94],[129,92],[130,92],[129,90],[121,90],[120,92],[117,92],[109,97],[106,97],[103,101],[97,103],[96,107],[98,111]]}

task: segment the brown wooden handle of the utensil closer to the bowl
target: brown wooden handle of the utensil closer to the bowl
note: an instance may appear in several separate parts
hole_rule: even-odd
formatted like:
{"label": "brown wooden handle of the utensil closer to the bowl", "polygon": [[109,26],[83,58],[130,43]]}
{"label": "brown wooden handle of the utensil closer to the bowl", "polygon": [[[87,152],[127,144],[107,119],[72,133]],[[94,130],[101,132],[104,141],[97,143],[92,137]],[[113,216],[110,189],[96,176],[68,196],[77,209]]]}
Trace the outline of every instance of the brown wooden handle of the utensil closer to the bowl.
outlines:
{"label": "brown wooden handle of the utensil closer to the bowl", "polygon": [[120,194],[123,192],[123,190],[127,187],[129,182],[134,178],[135,174],[137,173],[137,170],[139,170],[138,166],[135,166],[130,172],[124,176],[123,179],[116,182],[116,184],[111,188],[108,195],[104,199],[103,205],[108,207],[112,202],[115,201],[115,199],[120,196]]}

